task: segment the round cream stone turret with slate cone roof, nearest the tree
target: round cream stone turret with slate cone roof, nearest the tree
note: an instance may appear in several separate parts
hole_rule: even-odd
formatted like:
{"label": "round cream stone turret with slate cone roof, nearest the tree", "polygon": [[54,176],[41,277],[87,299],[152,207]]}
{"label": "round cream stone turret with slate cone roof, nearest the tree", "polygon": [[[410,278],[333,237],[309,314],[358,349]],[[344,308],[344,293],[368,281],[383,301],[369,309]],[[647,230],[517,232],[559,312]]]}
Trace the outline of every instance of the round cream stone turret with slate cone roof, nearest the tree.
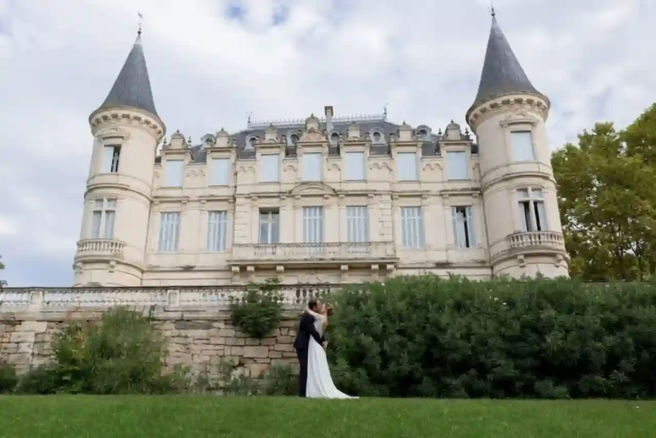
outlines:
{"label": "round cream stone turret with slate cone roof, nearest the tree", "polygon": [[478,137],[493,274],[568,273],[546,139],[549,108],[549,99],[529,81],[493,12],[478,94],[466,113]]}

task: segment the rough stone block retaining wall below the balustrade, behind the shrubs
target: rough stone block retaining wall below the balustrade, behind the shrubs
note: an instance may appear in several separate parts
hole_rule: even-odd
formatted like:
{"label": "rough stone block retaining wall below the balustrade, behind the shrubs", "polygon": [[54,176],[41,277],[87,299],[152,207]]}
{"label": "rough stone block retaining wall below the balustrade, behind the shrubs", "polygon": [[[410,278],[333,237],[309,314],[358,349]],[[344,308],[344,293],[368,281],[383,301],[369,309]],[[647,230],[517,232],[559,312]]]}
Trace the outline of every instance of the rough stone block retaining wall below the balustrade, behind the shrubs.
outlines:
{"label": "rough stone block retaining wall below the balustrade, behind the shrubs", "polygon": [[[269,338],[253,339],[230,323],[228,309],[133,308],[150,314],[167,340],[165,362],[216,372],[222,360],[239,364],[242,374],[258,378],[270,366],[290,364],[297,370],[293,340],[299,311],[285,311]],[[52,357],[54,335],[70,320],[97,320],[102,309],[13,311],[0,313],[0,360],[25,372]]]}

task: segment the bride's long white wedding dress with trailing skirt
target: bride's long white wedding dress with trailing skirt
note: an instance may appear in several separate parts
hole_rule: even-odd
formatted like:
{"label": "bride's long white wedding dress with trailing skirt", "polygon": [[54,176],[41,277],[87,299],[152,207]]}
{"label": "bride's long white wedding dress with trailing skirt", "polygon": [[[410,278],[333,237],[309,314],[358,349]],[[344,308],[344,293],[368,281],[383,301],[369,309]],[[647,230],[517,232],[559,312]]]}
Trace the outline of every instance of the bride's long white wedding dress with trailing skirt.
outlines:
{"label": "bride's long white wedding dress with trailing skirt", "polygon": [[[323,315],[318,313],[311,314],[314,318],[314,327],[323,334]],[[310,336],[310,345],[308,347],[308,385],[306,387],[306,397],[308,399],[357,399],[342,393],[330,376],[328,359],[326,352],[319,343]]]}

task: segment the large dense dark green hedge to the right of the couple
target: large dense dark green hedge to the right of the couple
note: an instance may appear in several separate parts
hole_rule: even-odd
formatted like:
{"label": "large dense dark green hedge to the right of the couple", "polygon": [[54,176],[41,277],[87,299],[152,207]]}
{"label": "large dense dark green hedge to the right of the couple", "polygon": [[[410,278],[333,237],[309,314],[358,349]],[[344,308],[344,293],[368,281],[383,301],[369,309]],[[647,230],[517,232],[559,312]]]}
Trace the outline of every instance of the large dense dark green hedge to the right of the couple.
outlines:
{"label": "large dense dark green hedge to the right of the couple", "polygon": [[436,276],[354,286],[333,297],[333,376],[361,396],[652,398],[655,286]]}

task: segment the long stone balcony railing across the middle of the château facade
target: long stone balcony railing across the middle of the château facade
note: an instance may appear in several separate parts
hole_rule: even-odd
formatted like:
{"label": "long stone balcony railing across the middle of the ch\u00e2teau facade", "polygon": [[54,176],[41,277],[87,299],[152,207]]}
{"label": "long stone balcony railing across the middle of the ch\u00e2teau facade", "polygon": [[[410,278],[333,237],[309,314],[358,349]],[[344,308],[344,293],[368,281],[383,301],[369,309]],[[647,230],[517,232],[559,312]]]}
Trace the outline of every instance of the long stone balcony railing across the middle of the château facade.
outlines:
{"label": "long stone balcony railing across the middle of the ch\u00e2teau facade", "polygon": [[393,259],[392,242],[321,244],[236,244],[233,261],[315,261]]}

